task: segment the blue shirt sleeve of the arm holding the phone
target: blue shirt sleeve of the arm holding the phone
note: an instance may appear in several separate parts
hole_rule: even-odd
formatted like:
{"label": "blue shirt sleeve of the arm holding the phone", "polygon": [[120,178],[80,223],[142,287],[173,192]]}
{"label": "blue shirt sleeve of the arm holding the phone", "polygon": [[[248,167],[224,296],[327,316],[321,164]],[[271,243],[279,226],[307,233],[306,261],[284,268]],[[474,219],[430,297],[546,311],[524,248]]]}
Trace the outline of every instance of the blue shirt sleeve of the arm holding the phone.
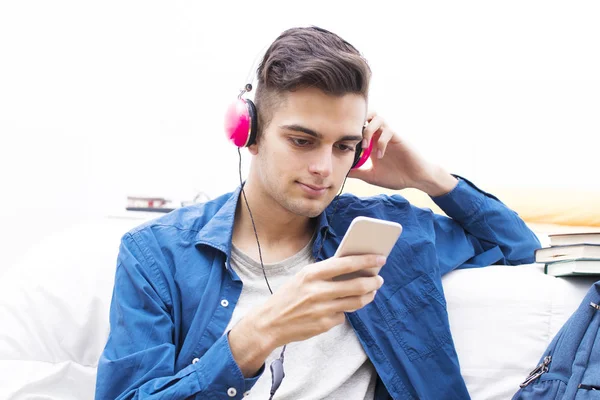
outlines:
{"label": "blue shirt sleeve of the arm holding the phone", "polygon": [[256,383],[244,379],[221,336],[176,371],[175,326],[164,278],[132,234],[119,250],[110,307],[110,334],[98,362],[96,399],[239,399]]}

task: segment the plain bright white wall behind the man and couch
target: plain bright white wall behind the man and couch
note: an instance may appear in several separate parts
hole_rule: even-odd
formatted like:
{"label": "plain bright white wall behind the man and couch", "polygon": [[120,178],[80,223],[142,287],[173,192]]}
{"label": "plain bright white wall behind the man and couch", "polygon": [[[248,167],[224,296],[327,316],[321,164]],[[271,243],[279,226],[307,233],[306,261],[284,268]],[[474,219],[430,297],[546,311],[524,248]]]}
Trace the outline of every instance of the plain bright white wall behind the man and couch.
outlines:
{"label": "plain bright white wall behind the man and couch", "polygon": [[295,25],[358,47],[373,108],[449,170],[600,189],[599,20],[597,1],[1,2],[0,268],[127,195],[233,189],[223,111]]}

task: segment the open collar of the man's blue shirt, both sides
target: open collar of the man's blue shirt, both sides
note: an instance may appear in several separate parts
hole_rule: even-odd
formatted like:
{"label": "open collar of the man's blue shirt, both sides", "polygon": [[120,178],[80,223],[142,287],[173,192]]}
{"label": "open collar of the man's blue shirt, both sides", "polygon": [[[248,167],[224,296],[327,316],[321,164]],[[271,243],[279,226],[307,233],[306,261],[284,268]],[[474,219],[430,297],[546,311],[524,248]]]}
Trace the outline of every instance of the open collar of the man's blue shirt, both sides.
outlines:
{"label": "open collar of the man's blue shirt, both sides", "polygon": [[[200,229],[196,235],[195,245],[207,245],[221,250],[228,258],[231,256],[231,238],[233,236],[235,210],[240,193],[241,186],[238,186],[225,203],[223,203],[219,211]],[[328,232],[328,235],[331,237],[337,236],[327,219],[327,213],[330,208],[331,205],[317,217],[317,240],[322,240],[325,232]]]}

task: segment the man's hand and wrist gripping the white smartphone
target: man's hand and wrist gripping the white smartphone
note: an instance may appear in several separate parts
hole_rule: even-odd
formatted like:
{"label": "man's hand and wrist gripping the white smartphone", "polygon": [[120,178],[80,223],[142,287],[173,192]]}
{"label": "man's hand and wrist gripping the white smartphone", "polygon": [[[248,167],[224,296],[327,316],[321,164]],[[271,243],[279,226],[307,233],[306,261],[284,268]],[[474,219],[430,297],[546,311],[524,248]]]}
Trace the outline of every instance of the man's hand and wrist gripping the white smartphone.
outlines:
{"label": "man's hand and wrist gripping the white smartphone", "polygon": [[385,257],[377,255],[332,257],[285,282],[229,332],[231,352],[244,376],[254,376],[277,347],[326,332],[344,322],[344,312],[372,302],[383,284],[381,276],[333,278],[383,264]]}

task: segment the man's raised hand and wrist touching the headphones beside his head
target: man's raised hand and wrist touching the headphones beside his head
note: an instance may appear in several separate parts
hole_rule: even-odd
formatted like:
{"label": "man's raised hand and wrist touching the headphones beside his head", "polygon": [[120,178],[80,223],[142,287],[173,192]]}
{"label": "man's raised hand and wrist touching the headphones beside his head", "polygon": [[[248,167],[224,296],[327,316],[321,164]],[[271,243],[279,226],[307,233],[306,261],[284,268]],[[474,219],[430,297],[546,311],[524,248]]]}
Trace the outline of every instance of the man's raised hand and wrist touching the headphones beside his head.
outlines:
{"label": "man's raised hand and wrist touching the headphones beside his head", "polygon": [[352,170],[349,177],[394,190],[416,188],[432,197],[446,194],[457,185],[455,177],[425,160],[381,116],[371,111],[367,123],[363,147],[373,140],[372,166]]}

